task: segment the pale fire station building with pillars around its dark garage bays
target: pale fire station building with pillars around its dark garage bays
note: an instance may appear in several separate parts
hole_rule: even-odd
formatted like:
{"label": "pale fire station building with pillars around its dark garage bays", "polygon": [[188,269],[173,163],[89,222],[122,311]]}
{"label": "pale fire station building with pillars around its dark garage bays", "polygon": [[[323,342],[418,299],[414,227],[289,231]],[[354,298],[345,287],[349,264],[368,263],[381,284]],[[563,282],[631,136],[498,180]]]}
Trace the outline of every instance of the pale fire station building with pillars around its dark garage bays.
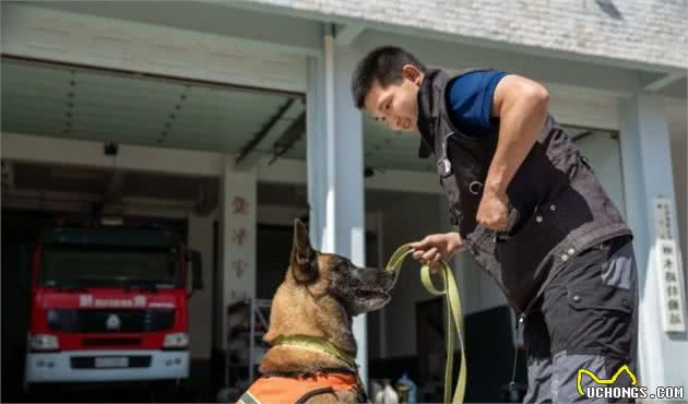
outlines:
{"label": "pale fire station building with pillars around its dark garage bays", "polygon": [[[688,333],[665,322],[688,322],[685,1],[3,2],[3,210],[91,201],[87,189],[26,179],[33,166],[185,178],[190,195],[145,194],[104,174],[120,212],[183,219],[189,242],[217,254],[204,260],[214,286],[191,309],[194,356],[205,360],[227,348],[222,308],[261,288],[271,248],[261,225],[306,215],[317,248],[360,265],[449,228],[434,167],[415,158],[418,139],[352,104],[354,66],[381,45],[549,90],[551,112],[634,233],[641,383],[688,387]],[[104,142],[120,145],[116,159]],[[664,292],[662,242],[676,246],[678,312]],[[453,264],[468,313],[505,305],[470,259]],[[416,332],[404,322],[426,298],[415,282],[403,280],[411,292],[381,313],[355,319],[364,378],[370,357],[418,354],[415,335],[398,336]]]}

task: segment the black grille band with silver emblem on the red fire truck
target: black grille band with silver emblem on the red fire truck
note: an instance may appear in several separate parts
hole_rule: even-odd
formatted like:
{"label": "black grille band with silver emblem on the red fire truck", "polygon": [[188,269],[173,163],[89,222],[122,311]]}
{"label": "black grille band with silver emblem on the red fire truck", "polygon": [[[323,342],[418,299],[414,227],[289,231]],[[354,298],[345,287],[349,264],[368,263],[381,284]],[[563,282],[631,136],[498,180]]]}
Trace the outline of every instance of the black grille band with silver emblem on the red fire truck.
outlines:
{"label": "black grille band with silver emblem on the red fire truck", "polygon": [[156,332],[173,328],[174,309],[50,309],[48,326],[73,333]]}

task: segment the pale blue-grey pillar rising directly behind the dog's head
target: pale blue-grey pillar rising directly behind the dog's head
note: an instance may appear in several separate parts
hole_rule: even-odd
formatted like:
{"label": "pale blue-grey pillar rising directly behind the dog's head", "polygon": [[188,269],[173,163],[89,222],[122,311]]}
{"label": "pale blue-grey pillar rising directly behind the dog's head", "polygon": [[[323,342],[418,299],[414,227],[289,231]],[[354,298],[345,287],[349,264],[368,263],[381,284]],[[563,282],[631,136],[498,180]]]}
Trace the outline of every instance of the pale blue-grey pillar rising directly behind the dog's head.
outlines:
{"label": "pale blue-grey pillar rising directly behind the dog's head", "polygon": [[[358,55],[335,45],[331,28],[324,35],[323,46],[322,59],[309,63],[307,143],[311,236],[320,250],[340,253],[356,265],[365,265],[363,120],[349,90]],[[354,335],[359,373],[367,381],[365,316],[354,318]]]}

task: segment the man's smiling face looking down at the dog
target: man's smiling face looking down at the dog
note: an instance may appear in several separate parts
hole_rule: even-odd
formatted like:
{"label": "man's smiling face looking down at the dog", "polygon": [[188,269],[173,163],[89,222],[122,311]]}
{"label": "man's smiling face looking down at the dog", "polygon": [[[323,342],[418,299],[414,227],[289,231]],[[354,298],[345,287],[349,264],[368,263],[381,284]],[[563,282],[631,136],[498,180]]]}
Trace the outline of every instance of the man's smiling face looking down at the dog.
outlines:
{"label": "man's smiling face looking down at the dog", "polygon": [[417,131],[417,95],[422,81],[423,73],[416,67],[404,66],[401,83],[387,87],[378,82],[372,84],[364,103],[366,110],[392,130]]}

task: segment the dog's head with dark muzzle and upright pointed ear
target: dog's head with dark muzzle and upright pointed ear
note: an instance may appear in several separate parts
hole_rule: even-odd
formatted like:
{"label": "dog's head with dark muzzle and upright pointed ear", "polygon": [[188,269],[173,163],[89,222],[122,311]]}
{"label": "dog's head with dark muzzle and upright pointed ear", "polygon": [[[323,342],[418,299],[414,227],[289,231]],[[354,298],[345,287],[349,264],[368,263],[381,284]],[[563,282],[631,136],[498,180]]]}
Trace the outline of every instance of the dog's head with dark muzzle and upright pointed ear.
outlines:
{"label": "dog's head with dark muzzle and upright pointed ear", "polygon": [[333,296],[349,316],[382,308],[394,284],[394,274],[385,270],[360,268],[342,256],[316,251],[299,219],[294,222],[289,272],[297,285]]}

